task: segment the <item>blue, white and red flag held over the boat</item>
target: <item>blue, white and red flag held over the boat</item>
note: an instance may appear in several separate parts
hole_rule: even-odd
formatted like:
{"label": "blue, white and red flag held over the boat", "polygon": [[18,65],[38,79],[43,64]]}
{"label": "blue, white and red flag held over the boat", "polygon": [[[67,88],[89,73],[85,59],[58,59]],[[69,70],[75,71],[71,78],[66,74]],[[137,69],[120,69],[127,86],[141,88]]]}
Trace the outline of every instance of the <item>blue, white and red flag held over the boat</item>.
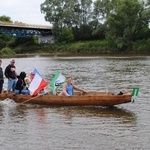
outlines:
{"label": "blue, white and red flag held over the boat", "polygon": [[32,96],[37,95],[39,91],[48,85],[48,83],[43,79],[36,69],[34,69],[34,73],[35,76],[29,86],[30,95]]}

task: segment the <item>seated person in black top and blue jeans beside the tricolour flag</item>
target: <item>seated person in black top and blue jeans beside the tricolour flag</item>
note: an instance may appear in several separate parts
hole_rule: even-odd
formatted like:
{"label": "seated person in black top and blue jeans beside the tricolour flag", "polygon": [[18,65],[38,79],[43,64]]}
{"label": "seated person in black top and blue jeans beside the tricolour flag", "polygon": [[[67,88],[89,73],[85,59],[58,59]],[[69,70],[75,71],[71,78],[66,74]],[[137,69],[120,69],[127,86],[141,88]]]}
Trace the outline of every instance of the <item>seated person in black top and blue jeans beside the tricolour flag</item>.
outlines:
{"label": "seated person in black top and blue jeans beside the tricolour flag", "polygon": [[15,86],[15,91],[14,91],[15,94],[28,95],[30,93],[29,90],[25,88],[25,86],[26,86],[26,83],[24,81],[25,77],[26,77],[26,73],[25,72],[21,72],[19,77],[18,77],[16,86]]}

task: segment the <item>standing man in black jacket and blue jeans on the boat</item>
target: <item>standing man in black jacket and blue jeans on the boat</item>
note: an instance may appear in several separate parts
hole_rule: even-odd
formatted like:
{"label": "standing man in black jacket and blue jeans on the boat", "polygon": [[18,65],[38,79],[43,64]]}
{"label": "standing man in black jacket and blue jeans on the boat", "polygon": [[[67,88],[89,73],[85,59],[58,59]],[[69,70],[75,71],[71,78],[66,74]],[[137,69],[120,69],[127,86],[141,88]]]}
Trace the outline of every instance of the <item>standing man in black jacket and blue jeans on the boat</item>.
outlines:
{"label": "standing man in black jacket and blue jeans on the boat", "polygon": [[17,74],[16,74],[16,67],[14,64],[15,60],[12,59],[10,61],[10,64],[5,69],[5,76],[8,79],[8,86],[7,86],[8,92],[10,92],[11,90],[14,91],[16,86]]}

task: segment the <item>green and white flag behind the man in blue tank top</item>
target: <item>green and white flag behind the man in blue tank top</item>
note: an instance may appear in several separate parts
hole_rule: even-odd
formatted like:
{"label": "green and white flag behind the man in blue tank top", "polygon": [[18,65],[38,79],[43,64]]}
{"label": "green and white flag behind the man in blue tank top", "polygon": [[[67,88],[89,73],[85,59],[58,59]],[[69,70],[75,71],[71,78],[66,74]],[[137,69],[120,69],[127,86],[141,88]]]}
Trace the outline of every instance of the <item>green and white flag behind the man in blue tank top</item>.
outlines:
{"label": "green and white flag behind the man in blue tank top", "polygon": [[57,71],[50,84],[52,94],[56,94],[56,89],[65,82],[66,78],[59,71]]}

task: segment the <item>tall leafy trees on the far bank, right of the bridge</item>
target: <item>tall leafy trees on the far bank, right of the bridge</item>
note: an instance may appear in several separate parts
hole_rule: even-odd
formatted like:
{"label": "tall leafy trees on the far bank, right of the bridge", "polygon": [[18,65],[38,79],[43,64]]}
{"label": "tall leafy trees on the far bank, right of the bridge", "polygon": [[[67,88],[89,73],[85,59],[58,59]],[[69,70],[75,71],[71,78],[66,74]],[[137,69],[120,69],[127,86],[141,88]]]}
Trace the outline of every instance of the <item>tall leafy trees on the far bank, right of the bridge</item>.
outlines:
{"label": "tall leafy trees on the far bank, right of the bridge", "polygon": [[124,51],[150,41],[150,0],[45,0],[41,11],[58,42],[107,40]]}

